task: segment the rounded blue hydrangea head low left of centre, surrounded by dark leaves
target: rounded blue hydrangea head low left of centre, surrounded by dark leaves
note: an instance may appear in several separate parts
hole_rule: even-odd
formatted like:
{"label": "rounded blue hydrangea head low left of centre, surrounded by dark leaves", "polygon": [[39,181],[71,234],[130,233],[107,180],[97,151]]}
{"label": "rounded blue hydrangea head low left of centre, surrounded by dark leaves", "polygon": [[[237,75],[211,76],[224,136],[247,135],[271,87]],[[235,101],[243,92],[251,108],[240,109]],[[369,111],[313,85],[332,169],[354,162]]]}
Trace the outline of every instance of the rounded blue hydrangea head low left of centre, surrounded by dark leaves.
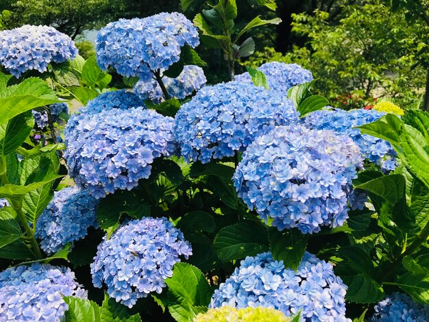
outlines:
{"label": "rounded blue hydrangea head low left of centre, surrounded by dark leaves", "polygon": [[151,292],[160,294],[179,256],[192,255],[182,232],[164,217],[130,221],[103,239],[90,265],[93,284],[106,284],[108,295],[129,308]]}

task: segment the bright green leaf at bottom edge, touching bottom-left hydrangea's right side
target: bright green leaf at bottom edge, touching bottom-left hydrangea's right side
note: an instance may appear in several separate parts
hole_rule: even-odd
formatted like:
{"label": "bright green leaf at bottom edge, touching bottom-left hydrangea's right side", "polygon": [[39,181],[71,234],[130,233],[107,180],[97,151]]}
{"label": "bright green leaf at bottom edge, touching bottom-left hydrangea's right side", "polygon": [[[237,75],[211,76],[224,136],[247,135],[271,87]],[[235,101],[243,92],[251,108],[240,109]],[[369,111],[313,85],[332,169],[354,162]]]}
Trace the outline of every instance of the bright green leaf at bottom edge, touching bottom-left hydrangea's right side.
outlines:
{"label": "bright green leaf at bottom edge, touching bottom-left hydrangea's right side", "polygon": [[63,299],[69,306],[69,310],[64,314],[67,322],[103,321],[100,317],[100,308],[94,301],[73,296],[66,296]]}

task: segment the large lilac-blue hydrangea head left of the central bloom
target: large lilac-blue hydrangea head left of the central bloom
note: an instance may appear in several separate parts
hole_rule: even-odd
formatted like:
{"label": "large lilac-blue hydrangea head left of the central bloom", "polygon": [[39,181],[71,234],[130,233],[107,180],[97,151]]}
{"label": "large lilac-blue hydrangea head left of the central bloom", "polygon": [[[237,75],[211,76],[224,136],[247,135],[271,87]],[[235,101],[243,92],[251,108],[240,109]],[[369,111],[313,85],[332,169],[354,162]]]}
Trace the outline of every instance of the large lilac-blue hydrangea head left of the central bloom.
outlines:
{"label": "large lilac-blue hydrangea head left of the central bloom", "polygon": [[76,184],[96,198],[131,190],[149,177],[154,159],[175,153],[171,117],[143,107],[88,114],[66,125],[64,158]]}

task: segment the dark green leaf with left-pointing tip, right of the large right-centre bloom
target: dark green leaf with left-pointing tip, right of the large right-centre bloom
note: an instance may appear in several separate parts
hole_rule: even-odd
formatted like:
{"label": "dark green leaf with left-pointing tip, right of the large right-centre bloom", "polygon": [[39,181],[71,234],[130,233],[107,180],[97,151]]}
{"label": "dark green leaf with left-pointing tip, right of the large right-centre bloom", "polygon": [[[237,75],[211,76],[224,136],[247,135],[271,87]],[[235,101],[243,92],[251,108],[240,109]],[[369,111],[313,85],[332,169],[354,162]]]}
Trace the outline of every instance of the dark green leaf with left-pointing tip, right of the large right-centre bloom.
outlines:
{"label": "dark green leaf with left-pointing tip, right of the large right-centre bloom", "polygon": [[369,191],[391,203],[397,203],[405,197],[405,178],[403,175],[386,175],[372,179],[354,188]]}

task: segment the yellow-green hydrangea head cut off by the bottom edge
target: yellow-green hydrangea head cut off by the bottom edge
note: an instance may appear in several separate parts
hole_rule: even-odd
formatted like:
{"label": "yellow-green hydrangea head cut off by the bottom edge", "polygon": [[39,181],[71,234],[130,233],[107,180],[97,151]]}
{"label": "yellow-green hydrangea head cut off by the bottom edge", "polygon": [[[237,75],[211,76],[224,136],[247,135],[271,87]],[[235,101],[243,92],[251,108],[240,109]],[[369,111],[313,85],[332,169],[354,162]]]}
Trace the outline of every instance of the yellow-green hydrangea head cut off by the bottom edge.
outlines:
{"label": "yellow-green hydrangea head cut off by the bottom edge", "polygon": [[194,322],[289,322],[283,312],[273,308],[233,308],[232,306],[222,306],[212,308],[206,313],[200,313],[195,317]]}

